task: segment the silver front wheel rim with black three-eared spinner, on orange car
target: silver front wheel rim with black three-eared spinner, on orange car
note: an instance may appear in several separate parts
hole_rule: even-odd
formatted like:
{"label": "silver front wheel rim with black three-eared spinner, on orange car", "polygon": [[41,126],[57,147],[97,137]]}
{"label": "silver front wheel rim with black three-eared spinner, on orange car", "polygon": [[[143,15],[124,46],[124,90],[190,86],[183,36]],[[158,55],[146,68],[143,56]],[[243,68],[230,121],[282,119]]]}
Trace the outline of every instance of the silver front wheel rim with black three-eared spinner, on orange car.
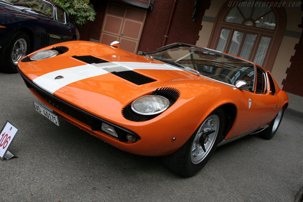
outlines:
{"label": "silver front wheel rim with black three-eared spinner, on orange car", "polygon": [[191,163],[200,163],[211,151],[218,135],[219,125],[220,119],[216,114],[212,114],[203,122],[191,145]]}

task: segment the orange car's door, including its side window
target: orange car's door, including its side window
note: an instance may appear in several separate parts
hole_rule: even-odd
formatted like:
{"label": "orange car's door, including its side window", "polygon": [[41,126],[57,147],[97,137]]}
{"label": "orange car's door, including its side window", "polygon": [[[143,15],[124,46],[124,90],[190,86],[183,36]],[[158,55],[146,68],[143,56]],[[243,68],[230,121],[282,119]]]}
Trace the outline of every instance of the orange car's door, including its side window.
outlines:
{"label": "orange car's door, including its side window", "polygon": [[240,134],[244,134],[268,124],[278,113],[278,97],[269,91],[267,73],[256,66],[256,83],[254,93],[250,93],[250,115]]}

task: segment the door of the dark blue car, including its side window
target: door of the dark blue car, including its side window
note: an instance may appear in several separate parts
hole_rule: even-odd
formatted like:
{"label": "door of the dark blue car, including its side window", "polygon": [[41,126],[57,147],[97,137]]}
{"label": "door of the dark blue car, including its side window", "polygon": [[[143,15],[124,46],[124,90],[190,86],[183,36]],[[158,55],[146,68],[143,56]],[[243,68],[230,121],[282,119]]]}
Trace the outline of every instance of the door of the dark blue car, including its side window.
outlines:
{"label": "door of the dark blue car, including its side window", "polygon": [[53,21],[53,34],[51,35],[53,44],[70,41],[71,28],[67,24],[65,11],[55,6],[55,20]]}

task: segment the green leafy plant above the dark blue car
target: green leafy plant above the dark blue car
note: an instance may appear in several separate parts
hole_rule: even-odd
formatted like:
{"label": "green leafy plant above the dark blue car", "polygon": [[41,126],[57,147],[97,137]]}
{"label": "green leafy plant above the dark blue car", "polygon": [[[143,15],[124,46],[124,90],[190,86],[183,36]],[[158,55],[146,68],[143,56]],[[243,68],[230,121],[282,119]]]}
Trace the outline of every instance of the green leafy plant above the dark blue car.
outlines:
{"label": "green leafy plant above the dark blue car", "polygon": [[53,2],[62,6],[68,13],[72,22],[80,27],[87,22],[87,20],[95,20],[95,9],[89,0],[52,0]]}

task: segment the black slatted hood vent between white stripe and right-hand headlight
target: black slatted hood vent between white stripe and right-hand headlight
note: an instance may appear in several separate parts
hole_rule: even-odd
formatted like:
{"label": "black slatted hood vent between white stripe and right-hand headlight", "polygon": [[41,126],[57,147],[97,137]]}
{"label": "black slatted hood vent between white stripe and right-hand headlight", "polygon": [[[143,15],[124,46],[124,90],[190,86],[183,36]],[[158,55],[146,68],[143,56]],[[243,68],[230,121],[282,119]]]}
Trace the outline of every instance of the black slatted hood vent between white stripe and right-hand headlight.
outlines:
{"label": "black slatted hood vent between white stripe and right-hand headlight", "polygon": [[111,73],[137,85],[142,85],[142,84],[147,84],[157,81],[156,79],[139,74],[138,72],[135,71],[119,71],[119,72],[113,71]]}

